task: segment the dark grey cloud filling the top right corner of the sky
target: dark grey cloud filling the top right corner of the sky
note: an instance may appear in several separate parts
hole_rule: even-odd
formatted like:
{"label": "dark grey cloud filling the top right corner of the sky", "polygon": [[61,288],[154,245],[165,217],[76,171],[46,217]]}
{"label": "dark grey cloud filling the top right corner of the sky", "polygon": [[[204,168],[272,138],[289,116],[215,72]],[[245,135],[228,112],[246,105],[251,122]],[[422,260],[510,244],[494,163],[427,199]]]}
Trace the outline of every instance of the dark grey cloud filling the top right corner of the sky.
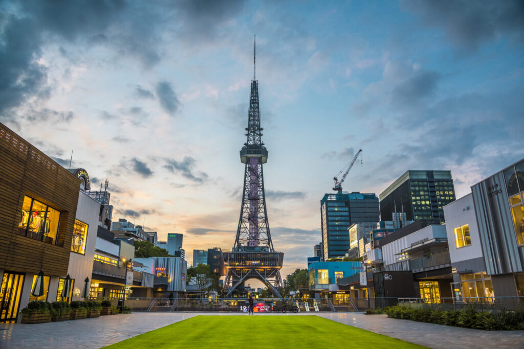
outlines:
{"label": "dark grey cloud filling the top right corner of the sky", "polygon": [[401,8],[420,15],[424,25],[443,28],[446,38],[460,50],[475,51],[501,35],[523,38],[524,3],[520,0],[404,0]]}

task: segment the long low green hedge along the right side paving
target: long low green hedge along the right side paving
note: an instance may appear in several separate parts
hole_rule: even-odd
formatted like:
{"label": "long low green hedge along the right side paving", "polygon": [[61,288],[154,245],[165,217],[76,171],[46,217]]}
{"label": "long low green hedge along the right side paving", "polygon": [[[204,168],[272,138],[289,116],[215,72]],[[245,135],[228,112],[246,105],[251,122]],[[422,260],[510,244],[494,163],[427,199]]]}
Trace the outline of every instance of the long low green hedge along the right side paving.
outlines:
{"label": "long low green hedge along the right side paving", "polygon": [[411,308],[396,305],[384,309],[388,317],[441,325],[465,327],[478,330],[524,330],[524,311],[500,311],[495,314],[477,311],[474,306],[460,311],[440,309]]}

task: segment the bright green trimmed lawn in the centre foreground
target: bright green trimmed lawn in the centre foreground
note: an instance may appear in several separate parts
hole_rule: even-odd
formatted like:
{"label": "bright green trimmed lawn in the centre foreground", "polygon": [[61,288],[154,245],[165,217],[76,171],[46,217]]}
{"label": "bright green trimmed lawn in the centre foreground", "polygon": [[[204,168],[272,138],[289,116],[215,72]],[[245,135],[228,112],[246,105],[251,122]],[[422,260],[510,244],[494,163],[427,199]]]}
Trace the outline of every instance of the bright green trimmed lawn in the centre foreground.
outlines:
{"label": "bright green trimmed lawn in the centre foreground", "polygon": [[108,348],[423,348],[318,316],[196,316]]}

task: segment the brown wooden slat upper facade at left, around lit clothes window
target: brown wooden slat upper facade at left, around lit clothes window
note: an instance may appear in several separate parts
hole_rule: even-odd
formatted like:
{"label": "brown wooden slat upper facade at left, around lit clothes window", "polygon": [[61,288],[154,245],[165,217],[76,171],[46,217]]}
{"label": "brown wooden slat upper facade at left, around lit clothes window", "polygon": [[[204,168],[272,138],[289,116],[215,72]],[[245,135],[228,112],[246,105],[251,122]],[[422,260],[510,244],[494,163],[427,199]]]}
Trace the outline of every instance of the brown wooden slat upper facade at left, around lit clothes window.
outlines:
{"label": "brown wooden slat upper facade at left, around lit clothes window", "polygon": [[[79,178],[0,123],[0,268],[67,275],[79,190]],[[18,234],[25,195],[60,211],[56,245]]]}

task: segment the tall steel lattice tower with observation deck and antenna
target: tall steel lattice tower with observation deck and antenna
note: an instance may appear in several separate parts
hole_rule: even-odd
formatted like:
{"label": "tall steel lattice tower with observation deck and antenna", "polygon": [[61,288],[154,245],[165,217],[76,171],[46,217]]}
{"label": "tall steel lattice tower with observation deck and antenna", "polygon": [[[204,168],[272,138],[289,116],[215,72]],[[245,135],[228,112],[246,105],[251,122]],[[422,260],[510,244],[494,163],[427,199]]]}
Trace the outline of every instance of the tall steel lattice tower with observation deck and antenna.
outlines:
{"label": "tall steel lattice tower with observation deck and antenna", "polygon": [[281,297],[277,288],[283,287],[280,268],[284,254],[275,252],[267,220],[266,196],[264,193],[264,172],[262,165],[267,162],[268,151],[261,140],[258,81],[256,80],[256,41],[253,56],[253,80],[249,96],[247,142],[240,151],[241,162],[245,164],[244,190],[240,219],[232,252],[224,253],[226,266],[226,297],[247,279],[258,279],[271,292]]}

